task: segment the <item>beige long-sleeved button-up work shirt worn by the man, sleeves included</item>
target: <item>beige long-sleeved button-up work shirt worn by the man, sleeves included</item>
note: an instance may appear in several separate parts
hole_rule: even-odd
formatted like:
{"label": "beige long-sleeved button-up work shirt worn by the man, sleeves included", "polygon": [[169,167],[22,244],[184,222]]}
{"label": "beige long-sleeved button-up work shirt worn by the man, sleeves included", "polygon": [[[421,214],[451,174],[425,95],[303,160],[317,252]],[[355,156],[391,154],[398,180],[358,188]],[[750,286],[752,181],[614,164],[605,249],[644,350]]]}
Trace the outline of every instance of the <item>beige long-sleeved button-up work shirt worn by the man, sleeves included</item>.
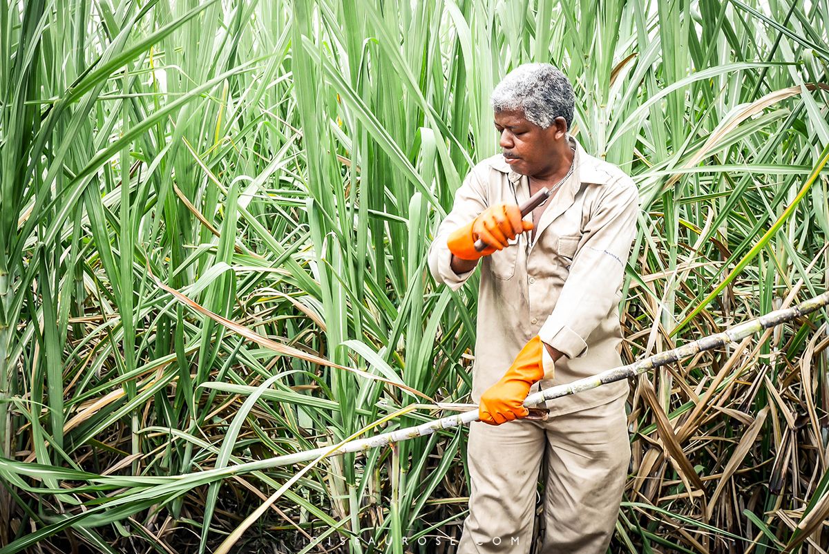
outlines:
{"label": "beige long-sleeved button-up work shirt worn by the man, sleeves included", "polygon": [[[622,365],[618,304],[636,232],[638,189],[621,169],[590,156],[572,137],[570,147],[573,173],[547,201],[535,238],[521,233],[514,245],[478,262],[475,402],[536,334],[564,356],[555,362],[554,378],[542,379],[531,392]],[[457,290],[474,271],[458,275],[450,267],[446,240],[452,231],[496,202],[521,204],[529,197],[529,178],[513,172],[501,154],[478,163],[429,246],[434,279]],[[532,214],[525,219],[532,221]],[[627,394],[628,381],[617,381],[547,401],[547,407],[550,415],[560,415]]]}

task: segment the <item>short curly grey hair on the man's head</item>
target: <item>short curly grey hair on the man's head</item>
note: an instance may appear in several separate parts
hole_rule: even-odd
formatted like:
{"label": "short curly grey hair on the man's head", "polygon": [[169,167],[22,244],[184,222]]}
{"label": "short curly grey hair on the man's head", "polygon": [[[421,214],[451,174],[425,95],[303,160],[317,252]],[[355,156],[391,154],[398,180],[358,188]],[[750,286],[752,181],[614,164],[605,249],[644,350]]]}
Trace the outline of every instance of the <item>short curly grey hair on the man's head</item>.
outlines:
{"label": "short curly grey hair on the man's head", "polygon": [[570,81],[555,66],[522,64],[507,73],[492,90],[492,109],[521,110],[527,121],[545,129],[557,117],[573,124],[574,94]]}

